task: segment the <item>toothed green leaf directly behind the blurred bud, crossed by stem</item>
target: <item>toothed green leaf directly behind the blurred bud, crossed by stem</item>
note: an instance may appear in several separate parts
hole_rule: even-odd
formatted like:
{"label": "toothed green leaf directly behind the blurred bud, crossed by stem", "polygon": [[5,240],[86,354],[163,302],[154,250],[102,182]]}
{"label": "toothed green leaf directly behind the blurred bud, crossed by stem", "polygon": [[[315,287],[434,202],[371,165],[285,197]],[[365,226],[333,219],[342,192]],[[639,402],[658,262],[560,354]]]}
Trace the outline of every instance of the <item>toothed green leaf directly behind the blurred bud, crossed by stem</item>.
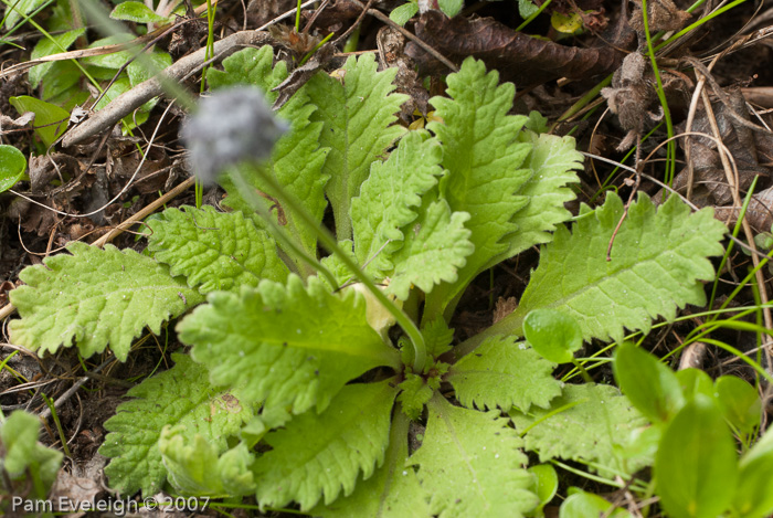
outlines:
{"label": "toothed green leaf directly behind the blurred bud, crossed by stem", "polygon": [[[212,70],[207,77],[212,88],[222,88],[235,84],[248,84],[260,87],[266,99],[274,102],[277,94],[272,89],[278,86],[288,75],[285,62],[273,65],[273,50],[265,45],[260,50],[245,49],[223,61],[223,71]],[[327,201],[325,200],[325,186],[329,176],[322,170],[328,149],[321,147],[321,123],[310,121],[318,109],[309,103],[308,88],[298,91],[278,110],[278,116],[290,123],[290,130],[285,134],[274,146],[272,158],[260,167],[264,172],[283,186],[285,192],[301,201],[317,224],[321,224]],[[324,144],[322,144],[324,146]],[[303,245],[306,252],[317,255],[317,234],[300,220],[298,214],[289,212],[278,202],[278,193],[265,186],[255,171],[254,165],[240,167],[247,182],[261,194],[265,208],[276,214],[276,221],[288,233],[289,239]],[[225,200],[227,207],[241,210],[245,214],[253,214],[253,207],[239,193],[232,180],[227,177],[221,181],[229,197]],[[258,228],[264,223],[257,215],[253,220]],[[304,271],[308,265],[297,257],[296,264]]]}

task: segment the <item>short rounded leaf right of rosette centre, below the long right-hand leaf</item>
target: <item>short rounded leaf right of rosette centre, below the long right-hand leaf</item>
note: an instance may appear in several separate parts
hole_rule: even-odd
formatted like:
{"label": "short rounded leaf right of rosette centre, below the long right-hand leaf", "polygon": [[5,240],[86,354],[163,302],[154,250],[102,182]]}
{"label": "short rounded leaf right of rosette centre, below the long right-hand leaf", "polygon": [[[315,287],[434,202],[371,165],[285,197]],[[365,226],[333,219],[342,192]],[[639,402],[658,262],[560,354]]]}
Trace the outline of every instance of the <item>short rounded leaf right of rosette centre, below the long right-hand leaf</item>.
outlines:
{"label": "short rounded leaf right of rosette centre, below the long right-hand leaf", "polygon": [[468,409],[547,409],[561,394],[561,384],[551,376],[554,367],[525,342],[516,343],[515,337],[495,336],[452,366],[445,380]]}

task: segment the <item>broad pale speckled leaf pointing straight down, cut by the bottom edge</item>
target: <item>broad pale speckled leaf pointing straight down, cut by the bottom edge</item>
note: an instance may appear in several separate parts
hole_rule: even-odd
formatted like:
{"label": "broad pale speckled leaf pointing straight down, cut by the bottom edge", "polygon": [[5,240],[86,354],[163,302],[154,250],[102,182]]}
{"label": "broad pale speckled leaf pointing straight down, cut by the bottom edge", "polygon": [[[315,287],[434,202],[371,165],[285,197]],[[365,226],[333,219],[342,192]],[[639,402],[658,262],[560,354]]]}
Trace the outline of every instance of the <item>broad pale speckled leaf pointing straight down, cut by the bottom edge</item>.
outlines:
{"label": "broad pale speckled leaf pointing straight down, cut by the bottom edge", "polygon": [[441,517],[521,517],[539,504],[521,466],[522,441],[499,411],[478,412],[436,395],[422,447],[409,463],[432,494],[432,512]]}

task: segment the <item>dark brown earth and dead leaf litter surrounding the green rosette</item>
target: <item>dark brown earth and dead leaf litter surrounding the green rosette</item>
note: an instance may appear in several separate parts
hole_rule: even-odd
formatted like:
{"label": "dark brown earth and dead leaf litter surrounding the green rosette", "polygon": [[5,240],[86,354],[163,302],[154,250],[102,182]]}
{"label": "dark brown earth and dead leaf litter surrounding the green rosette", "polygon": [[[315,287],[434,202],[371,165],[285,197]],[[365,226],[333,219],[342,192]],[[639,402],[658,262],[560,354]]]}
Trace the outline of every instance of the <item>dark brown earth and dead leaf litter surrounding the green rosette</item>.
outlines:
{"label": "dark brown earth and dead leaf litter surrounding the green rosette", "polygon": [[[717,7],[716,3],[710,4],[711,1],[698,8],[691,18],[685,20],[681,9],[686,9],[688,3],[674,4],[670,0],[659,2],[650,0],[648,2],[653,9],[650,23],[656,25],[653,29],[659,27],[668,32],[692,23]],[[371,8],[389,13],[401,3],[401,1],[373,1]],[[605,112],[607,104],[601,96],[592,99],[590,106],[593,109],[586,109],[570,117],[565,114],[605,76],[617,70],[626,53],[636,50],[640,39],[636,34],[636,28],[642,19],[637,3],[640,6],[636,1],[623,2],[623,6],[621,2],[607,0],[553,1],[546,10],[547,13],[570,14],[584,11],[583,20],[589,30],[576,36],[560,36],[551,27],[550,17],[543,14],[525,32],[551,40],[560,38],[560,44],[564,46],[550,46],[551,44],[546,41],[525,41],[516,38],[512,29],[518,27],[522,19],[518,14],[517,2],[510,0],[477,3],[467,1],[466,9],[453,22],[444,20],[438,11],[434,11],[422,18],[414,18],[406,28],[456,63],[468,54],[484,59],[489,68],[499,70],[504,78],[516,83],[517,106],[520,113],[537,109],[548,118],[550,124],[563,117],[562,121],[555,124],[555,133],[571,131],[578,139],[580,150],[611,160],[621,160],[626,151],[620,151],[617,147],[626,139],[626,135],[631,134],[628,140],[633,138],[635,142],[637,136],[644,136],[655,127],[657,123],[653,119],[657,119],[660,115],[652,67],[646,66],[643,71],[629,68],[618,72],[612,85],[615,89],[605,91],[605,97],[611,99],[610,104],[616,104],[620,117]],[[222,2],[218,11],[216,35],[223,38],[244,28],[255,29],[294,7],[294,0],[256,0],[250,2],[245,13],[240,2]],[[335,39],[358,22],[361,11],[361,4],[358,6],[356,2],[331,1],[320,12],[305,11],[303,19],[305,23],[301,22],[301,27],[317,15],[310,33],[326,35],[332,31],[336,33]],[[45,12],[40,18],[44,19]],[[766,201],[773,200],[773,194],[765,191],[771,186],[773,139],[771,139],[771,133],[761,127],[773,124],[767,114],[769,108],[773,108],[773,66],[771,66],[773,50],[771,40],[758,38],[760,31],[764,34],[769,25],[773,27],[772,18],[773,9],[770,4],[749,0],[697,29],[689,36],[679,39],[677,45],[669,47],[669,52],[658,55],[664,88],[675,131],[678,134],[685,129],[699,72],[706,72],[705,67],[718,52],[728,51],[716,62],[706,88],[722,140],[730,149],[739,168],[738,183],[741,198],[745,195],[754,176],[760,176],[755,190],[760,201],[752,203],[748,215],[754,234],[770,232],[773,222],[770,210],[773,203]],[[288,29],[290,23],[292,18],[275,28]],[[180,31],[176,35],[165,38],[159,42],[159,46],[169,49],[176,59],[195,50],[205,41],[207,27],[204,22],[191,27],[195,27],[195,30],[184,33]],[[396,36],[394,32],[389,34],[380,32],[384,27],[384,22],[373,15],[363,17],[360,22],[357,51],[372,51],[380,44],[382,47],[388,45],[382,57],[385,57],[390,64],[407,63],[410,66],[419,66],[417,76],[411,74],[411,67],[401,75],[401,88],[413,97],[412,106],[406,107],[403,113],[403,123],[410,124],[420,118],[414,114],[414,109],[425,113],[428,96],[443,91],[443,74],[447,71],[443,65],[427,57],[417,45],[407,44],[403,47],[405,41],[401,36]],[[655,30],[652,32],[654,33]],[[294,49],[308,45],[304,39],[298,41],[298,38],[288,34],[287,30],[275,30],[272,34],[276,38],[276,49],[285,56],[293,53]],[[39,36],[39,33],[28,32],[14,42],[31,49]],[[189,47],[180,46],[180,40],[187,42]],[[583,52],[572,54],[574,52],[570,50],[572,47],[582,49]],[[29,60],[29,50],[18,50],[10,45],[2,46],[2,50],[3,68]],[[339,46],[337,52],[340,51]],[[342,55],[336,54],[326,67],[336,68],[340,66],[341,60]],[[430,77],[428,83],[425,83],[428,84],[428,93],[422,87],[424,77]],[[195,77],[191,80],[189,86],[198,92],[199,85],[195,81]],[[25,74],[4,77],[0,84],[0,113],[12,118],[18,117],[17,112],[9,105],[9,97],[35,94],[30,88]],[[168,102],[162,99],[150,119],[141,127],[142,131],[137,133],[140,140],[144,140],[145,135],[149,135],[156,127],[167,104]],[[698,105],[700,108],[695,114],[692,128],[710,133],[710,116],[702,103]],[[172,113],[174,117],[167,117],[159,128],[157,144],[161,144],[162,147],[155,148],[138,178],[126,192],[95,216],[62,216],[13,194],[2,194],[0,198],[0,211],[3,214],[0,218],[0,242],[2,243],[0,246],[0,282],[2,282],[0,303],[2,305],[8,300],[7,292],[19,283],[18,274],[22,268],[39,264],[43,257],[55,253],[70,241],[95,241],[114,225],[147,207],[158,198],[160,191],[170,190],[188,177],[181,159],[183,149],[177,137],[182,113]],[[739,121],[739,118],[746,124]],[[3,144],[17,146],[29,156],[32,138],[32,133],[28,130],[9,131],[3,135]],[[645,157],[648,157],[650,151],[661,145],[666,138],[665,126],[660,126],[649,138],[643,140],[638,154],[639,169],[661,180],[666,169],[665,147],[655,151],[646,161]],[[104,205],[124,189],[139,158],[130,139],[113,135],[102,147],[97,146],[98,141],[99,139],[74,148],[56,149],[53,151],[53,159],[62,166],[63,177],[60,179],[56,171],[46,165],[47,161],[41,162],[36,170],[31,170],[32,181],[17,186],[17,191],[71,214],[88,213]],[[709,140],[693,140],[693,142],[690,149],[695,170],[691,199],[699,207],[717,208],[718,216],[733,223],[738,213],[733,208],[737,205],[716,146]],[[680,192],[687,190],[685,150],[685,140],[678,140],[675,186],[680,188]],[[87,168],[89,162],[93,162],[92,168]],[[631,157],[627,163],[633,166],[634,157]],[[31,163],[31,166],[35,165]],[[581,172],[579,200],[591,204],[601,202],[602,184],[605,189],[618,188],[626,199],[631,193],[633,177],[627,171],[612,175],[613,169],[614,166],[608,163],[586,160],[585,170]],[[85,172],[78,175],[73,171]],[[605,181],[607,177],[608,180]],[[66,189],[56,189],[56,186],[66,186]],[[644,179],[639,190],[655,195],[660,188]],[[222,192],[219,189],[210,189],[204,193],[204,202],[216,204],[221,195]],[[167,203],[167,207],[181,204],[193,204],[192,189]],[[575,204],[570,209],[576,212],[578,207]],[[739,237],[745,239],[743,232]],[[131,232],[118,236],[114,244],[118,247],[131,246],[137,250],[144,247],[144,242],[137,241]],[[728,267],[721,274],[718,304],[735,287],[739,279],[745,276],[751,264],[750,256],[738,250],[737,247]],[[523,290],[529,273],[536,267],[538,258],[538,250],[528,251],[495,267],[490,275],[484,274],[475,282],[459,304],[457,317],[452,323],[459,340],[489,326],[502,308],[512,304],[511,297],[518,297]],[[770,272],[765,269],[765,283],[770,282]],[[752,289],[745,288],[732,304],[754,304]],[[687,311],[689,310],[688,308]],[[700,324],[700,320],[661,328],[653,332],[647,339],[647,345],[663,355],[666,352],[664,349],[667,347],[666,343],[678,345],[680,337],[687,335],[696,324]],[[173,327],[174,323],[171,323],[166,334],[160,337],[146,335],[141,338],[127,363],[121,364],[115,360],[105,362],[107,356],[95,357],[85,361],[88,367],[88,372],[85,373],[76,351],[71,348],[42,360],[30,353],[15,355],[9,361],[9,367],[29,380],[29,383],[20,384],[20,380],[11,371],[0,371],[0,404],[6,413],[14,409],[41,413],[46,408],[41,394],[44,393],[53,399],[64,395],[64,402],[57,408],[57,414],[64,435],[67,437],[72,458],[65,459],[65,469],[61,475],[62,494],[71,497],[99,494],[100,497],[107,497],[108,491],[103,487],[106,482],[100,478],[99,472],[104,465],[104,458],[96,454],[106,433],[103,423],[115,413],[115,408],[123,401],[123,395],[128,388],[150,372],[169,367],[169,355],[181,347],[176,340]],[[755,347],[754,337],[740,331],[723,331],[723,335],[720,334],[717,338],[737,345],[742,350]],[[13,346],[2,345],[0,361],[13,350],[15,350]],[[594,345],[587,347],[589,355],[594,350]],[[698,355],[702,368],[712,377],[733,372],[737,376],[750,378],[743,363],[733,361],[737,359],[732,357],[717,352],[703,355],[700,355],[700,351],[693,352]],[[102,366],[100,370],[97,369],[99,366]],[[81,385],[80,390],[67,392],[84,376],[87,377],[87,381]],[[611,372],[603,369],[596,370],[595,376],[597,381],[611,379]],[[53,421],[49,419],[41,440],[45,444],[61,447],[59,437]],[[563,483],[585,486],[589,490],[599,494],[607,490],[603,487],[594,487],[591,482],[584,479],[569,479]],[[234,510],[233,516],[248,516],[246,512],[240,512],[242,511]]]}

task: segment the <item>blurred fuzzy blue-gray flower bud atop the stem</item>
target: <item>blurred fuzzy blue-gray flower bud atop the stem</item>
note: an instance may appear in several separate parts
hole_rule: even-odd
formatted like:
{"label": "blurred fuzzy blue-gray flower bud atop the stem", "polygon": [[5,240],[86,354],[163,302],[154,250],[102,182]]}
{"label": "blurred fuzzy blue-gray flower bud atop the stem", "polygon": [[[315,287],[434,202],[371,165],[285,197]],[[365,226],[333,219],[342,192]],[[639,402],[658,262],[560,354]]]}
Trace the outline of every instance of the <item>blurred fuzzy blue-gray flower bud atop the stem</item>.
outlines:
{"label": "blurred fuzzy blue-gray flower bud atop the stem", "polygon": [[234,86],[202,98],[180,134],[193,172],[211,184],[231,166],[269,158],[288,129],[287,123],[274,116],[258,88]]}

